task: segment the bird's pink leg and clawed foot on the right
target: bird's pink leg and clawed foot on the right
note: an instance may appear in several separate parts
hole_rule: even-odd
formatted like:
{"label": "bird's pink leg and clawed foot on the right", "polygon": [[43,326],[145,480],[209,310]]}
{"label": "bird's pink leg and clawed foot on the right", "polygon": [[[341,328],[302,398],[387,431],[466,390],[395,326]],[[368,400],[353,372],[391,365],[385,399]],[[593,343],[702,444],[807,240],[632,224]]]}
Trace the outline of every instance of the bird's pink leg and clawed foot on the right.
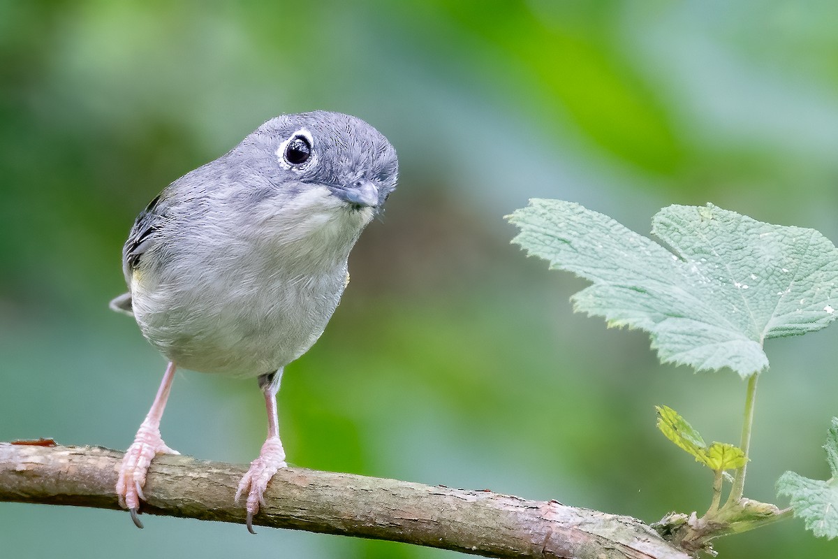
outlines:
{"label": "bird's pink leg and clawed foot on the right", "polygon": [[259,458],[251,462],[251,468],[247,470],[245,477],[239,482],[239,489],[235,492],[235,500],[238,502],[242,494],[247,494],[247,530],[253,531],[253,515],[259,512],[259,505],[265,504],[265,489],[267,482],[279,468],[286,468],[285,450],[279,440],[279,416],[277,415],[277,391],[279,381],[282,379],[282,369],[271,375],[259,377],[259,387],[265,395],[265,406],[267,409],[267,439],[262,445]]}

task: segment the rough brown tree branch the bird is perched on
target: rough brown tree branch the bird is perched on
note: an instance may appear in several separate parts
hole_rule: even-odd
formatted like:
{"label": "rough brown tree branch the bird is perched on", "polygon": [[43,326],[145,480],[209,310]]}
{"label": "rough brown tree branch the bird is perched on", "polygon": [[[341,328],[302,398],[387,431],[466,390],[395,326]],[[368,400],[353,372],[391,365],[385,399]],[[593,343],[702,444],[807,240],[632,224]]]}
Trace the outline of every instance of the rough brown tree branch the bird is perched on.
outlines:
{"label": "rough brown tree branch the bird is perched on", "polygon": [[[0,501],[119,509],[113,488],[121,462],[121,452],[101,447],[0,443]],[[244,473],[234,464],[158,456],[142,512],[244,523],[244,508],[233,502]],[[689,558],[629,516],[489,490],[287,468],[273,477],[266,501],[256,525],[494,557]]]}

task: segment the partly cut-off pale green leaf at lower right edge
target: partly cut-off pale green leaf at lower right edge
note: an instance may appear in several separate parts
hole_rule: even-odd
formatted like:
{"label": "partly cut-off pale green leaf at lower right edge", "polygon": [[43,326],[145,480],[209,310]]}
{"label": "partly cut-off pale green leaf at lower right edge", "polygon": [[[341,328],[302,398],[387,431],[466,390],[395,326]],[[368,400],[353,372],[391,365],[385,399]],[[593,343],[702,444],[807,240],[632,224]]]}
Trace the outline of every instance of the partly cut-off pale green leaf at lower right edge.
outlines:
{"label": "partly cut-off pale green leaf at lower right edge", "polygon": [[838,417],[832,418],[824,448],[830,479],[820,481],[786,472],[777,480],[777,494],[791,497],[794,515],[804,520],[807,530],[831,540],[838,536]]}

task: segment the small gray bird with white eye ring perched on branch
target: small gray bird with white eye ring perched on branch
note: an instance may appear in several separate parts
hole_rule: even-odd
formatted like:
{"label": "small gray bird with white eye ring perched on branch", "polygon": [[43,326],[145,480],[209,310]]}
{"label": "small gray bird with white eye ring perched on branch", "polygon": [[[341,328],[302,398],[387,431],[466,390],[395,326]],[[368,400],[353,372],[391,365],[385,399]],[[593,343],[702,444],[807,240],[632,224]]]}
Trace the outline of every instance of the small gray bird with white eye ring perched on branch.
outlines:
{"label": "small gray bird with white eye ring perched on branch", "polygon": [[176,367],[256,377],[268,434],[235,499],[247,529],[277,469],[286,467],[277,391],[285,365],[323,334],[349,283],[347,258],[396,188],[396,150],[354,116],[277,116],[238,146],[163,190],[122,250],[131,313],[169,364],[122,460],[116,494],[137,518],[148,466],[174,453],[160,418]]}

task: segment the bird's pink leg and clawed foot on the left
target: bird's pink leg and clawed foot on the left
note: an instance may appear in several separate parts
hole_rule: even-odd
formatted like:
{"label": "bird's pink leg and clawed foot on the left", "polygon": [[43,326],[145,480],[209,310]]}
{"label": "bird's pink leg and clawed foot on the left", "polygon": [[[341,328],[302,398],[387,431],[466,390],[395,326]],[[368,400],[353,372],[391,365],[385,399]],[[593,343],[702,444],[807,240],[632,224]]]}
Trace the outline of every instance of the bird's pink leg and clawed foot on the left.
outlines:
{"label": "bird's pink leg and clawed foot on the left", "polygon": [[179,454],[178,451],[168,448],[160,437],[160,418],[163,417],[168,393],[172,390],[174,370],[174,363],[169,363],[157,396],[154,397],[152,409],[148,411],[148,415],[137,430],[137,436],[125,452],[122,466],[119,468],[116,496],[122,507],[131,510],[131,518],[137,528],[142,528],[142,522],[137,518],[137,509],[140,506],[140,499],[145,499],[142,486],[146,484],[146,474],[152,458],[157,454]]}

